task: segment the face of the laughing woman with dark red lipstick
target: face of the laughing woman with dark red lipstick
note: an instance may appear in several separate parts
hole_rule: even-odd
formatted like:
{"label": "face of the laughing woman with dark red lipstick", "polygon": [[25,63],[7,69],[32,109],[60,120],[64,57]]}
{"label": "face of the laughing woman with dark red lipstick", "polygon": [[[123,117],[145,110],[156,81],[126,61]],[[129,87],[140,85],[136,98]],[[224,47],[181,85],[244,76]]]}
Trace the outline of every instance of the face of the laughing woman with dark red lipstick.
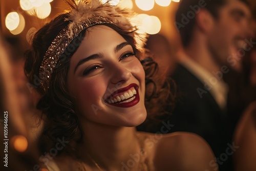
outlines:
{"label": "face of the laughing woman with dark red lipstick", "polygon": [[99,25],[88,29],[68,72],[79,119],[114,126],[137,126],[144,121],[144,80],[129,42]]}

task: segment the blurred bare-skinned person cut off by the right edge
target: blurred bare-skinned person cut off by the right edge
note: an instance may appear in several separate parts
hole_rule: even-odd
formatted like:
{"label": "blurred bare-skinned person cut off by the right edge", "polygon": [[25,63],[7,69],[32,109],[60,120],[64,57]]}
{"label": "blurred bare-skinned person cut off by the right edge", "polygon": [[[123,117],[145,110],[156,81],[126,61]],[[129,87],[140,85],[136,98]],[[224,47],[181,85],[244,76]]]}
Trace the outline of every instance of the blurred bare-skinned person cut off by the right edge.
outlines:
{"label": "blurred bare-skinned person cut off by the right edge", "polygon": [[[255,40],[254,40],[255,42]],[[234,132],[234,142],[239,146],[234,153],[234,166],[239,170],[256,170],[256,47],[243,58],[243,81],[240,80],[243,105],[247,106]],[[242,84],[241,84],[242,83]],[[240,101],[241,101],[240,100]]]}

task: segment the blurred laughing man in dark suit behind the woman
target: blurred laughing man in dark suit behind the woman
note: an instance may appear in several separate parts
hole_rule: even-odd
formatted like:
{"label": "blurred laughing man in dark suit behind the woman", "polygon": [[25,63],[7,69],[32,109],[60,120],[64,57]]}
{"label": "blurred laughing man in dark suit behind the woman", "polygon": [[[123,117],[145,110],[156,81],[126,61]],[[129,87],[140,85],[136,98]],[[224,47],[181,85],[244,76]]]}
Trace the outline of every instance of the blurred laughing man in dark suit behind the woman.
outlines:
{"label": "blurred laughing man in dark suit behind the woman", "polygon": [[[218,166],[212,167],[225,171],[232,170],[231,153],[226,154],[226,149],[235,144],[231,142],[234,127],[229,127],[232,114],[226,105],[229,88],[223,75],[239,68],[237,52],[251,36],[250,18],[243,0],[184,0],[176,13],[183,49],[170,76],[177,84],[177,102],[165,121],[174,125],[169,132],[202,136],[215,153]],[[152,127],[150,132],[159,129]]]}

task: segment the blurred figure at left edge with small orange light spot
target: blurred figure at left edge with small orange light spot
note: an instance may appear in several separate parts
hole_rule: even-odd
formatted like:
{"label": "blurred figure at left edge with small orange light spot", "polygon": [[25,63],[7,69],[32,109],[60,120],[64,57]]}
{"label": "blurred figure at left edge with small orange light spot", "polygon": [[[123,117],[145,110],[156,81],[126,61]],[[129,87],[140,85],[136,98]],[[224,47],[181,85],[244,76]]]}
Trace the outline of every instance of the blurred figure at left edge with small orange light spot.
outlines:
{"label": "blurred figure at left edge with small orange light spot", "polygon": [[[31,132],[31,123],[28,119],[28,108],[20,105],[24,99],[17,91],[18,70],[15,70],[8,43],[0,34],[0,135],[1,143],[1,170],[31,170],[38,168],[38,147],[35,145],[35,133]],[[18,73],[24,73],[23,67]],[[24,75],[24,74],[23,74]],[[34,120],[33,120],[34,122]]]}

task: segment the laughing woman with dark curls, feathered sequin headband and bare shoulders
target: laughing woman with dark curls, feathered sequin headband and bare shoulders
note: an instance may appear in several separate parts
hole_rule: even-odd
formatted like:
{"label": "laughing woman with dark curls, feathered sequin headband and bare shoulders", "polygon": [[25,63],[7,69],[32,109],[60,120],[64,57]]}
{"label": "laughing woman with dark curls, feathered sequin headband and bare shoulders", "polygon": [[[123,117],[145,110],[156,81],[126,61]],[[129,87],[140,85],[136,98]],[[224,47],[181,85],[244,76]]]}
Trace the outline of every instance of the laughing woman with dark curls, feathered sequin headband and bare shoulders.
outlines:
{"label": "laughing woman with dark curls, feathered sequin headband and bare shoulders", "polygon": [[[41,142],[50,152],[39,160],[49,170],[216,169],[197,135],[136,131],[161,114],[168,90],[158,94],[144,35],[128,19],[133,13],[98,0],[67,3],[71,10],[42,27],[27,52],[25,72],[45,116]],[[148,91],[148,84],[156,86]]]}

